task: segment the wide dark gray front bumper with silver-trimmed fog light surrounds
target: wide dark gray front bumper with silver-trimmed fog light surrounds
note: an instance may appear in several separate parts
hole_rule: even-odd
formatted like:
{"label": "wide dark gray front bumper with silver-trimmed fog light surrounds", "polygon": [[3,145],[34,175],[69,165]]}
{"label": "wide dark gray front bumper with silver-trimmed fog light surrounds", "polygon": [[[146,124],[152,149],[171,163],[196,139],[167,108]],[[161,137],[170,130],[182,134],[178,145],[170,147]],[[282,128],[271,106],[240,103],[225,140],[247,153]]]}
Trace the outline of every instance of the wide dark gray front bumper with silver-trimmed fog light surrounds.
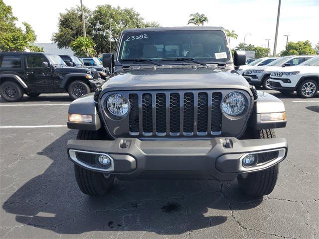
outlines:
{"label": "wide dark gray front bumper with silver-trimmed fog light surrounds", "polygon": [[[113,141],[69,140],[67,149],[69,159],[75,164],[88,170],[115,174],[119,179],[171,176],[228,181],[239,174],[260,171],[281,162],[286,158],[288,143],[284,138],[239,140],[229,137],[187,141],[117,138]],[[243,167],[243,157],[252,153],[258,155],[260,163]],[[111,158],[108,168],[99,164],[97,157],[101,154]]]}

